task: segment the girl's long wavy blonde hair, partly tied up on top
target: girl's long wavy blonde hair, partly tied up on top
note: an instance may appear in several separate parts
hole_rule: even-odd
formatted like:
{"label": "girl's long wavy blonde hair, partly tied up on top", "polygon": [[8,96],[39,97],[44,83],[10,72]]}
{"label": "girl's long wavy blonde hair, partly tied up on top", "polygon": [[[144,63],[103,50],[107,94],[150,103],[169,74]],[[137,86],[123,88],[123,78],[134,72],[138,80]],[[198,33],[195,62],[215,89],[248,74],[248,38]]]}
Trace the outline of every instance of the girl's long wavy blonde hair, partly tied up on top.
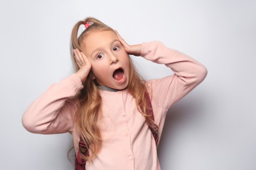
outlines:
{"label": "girl's long wavy blonde hair, partly tied up on top", "polygon": [[[91,26],[87,27],[79,37],[77,37],[77,32],[80,25],[87,24],[87,22],[93,23]],[[85,18],[83,21],[77,22],[72,29],[72,51],[77,48],[82,51],[81,44],[83,40],[87,37],[87,35],[91,31],[114,31],[108,25],[100,22],[96,18]],[[148,115],[146,114],[146,99],[144,97],[144,93],[146,92],[146,86],[144,84],[144,80],[137,73],[133,62],[130,60],[130,73],[129,73],[129,82],[127,89],[133,97],[136,99],[137,108],[144,115],[146,120],[148,119]],[[75,71],[79,70],[78,65],[75,62],[74,54],[72,54],[72,61],[74,64]],[[81,139],[87,144],[87,148],[91,150],[91,155],[85,156],[82,154],[82,158],[84,160],[91,160],[94,158],[100,148],[102,146],[102,138],[100,135],[100,129],[97,126],[97,120],[101,110],[101,97],[99,90],[96,86],[96,82],[91,78],[92,73],[89,73],[87,79],[83,83],[83,90],[79,92],[79,106],[77,112],[75,113],[75,126],[80,132]],[[154,121],[151,121],[149,126],[155,127]]]}

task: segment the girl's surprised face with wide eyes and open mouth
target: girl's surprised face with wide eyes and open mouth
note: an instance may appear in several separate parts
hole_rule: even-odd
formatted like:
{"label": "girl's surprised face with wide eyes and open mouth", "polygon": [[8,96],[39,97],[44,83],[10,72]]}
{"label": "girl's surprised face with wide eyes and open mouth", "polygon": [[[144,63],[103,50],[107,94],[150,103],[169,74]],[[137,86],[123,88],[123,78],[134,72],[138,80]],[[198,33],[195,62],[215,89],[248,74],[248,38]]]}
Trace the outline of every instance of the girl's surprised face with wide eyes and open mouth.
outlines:
{"label": "girl's surprised face with wide eyes and open mouth", "polygon": [[91,31],[82,47],[98,84],[123,90],[129,82],[129,56],[114,31]]}

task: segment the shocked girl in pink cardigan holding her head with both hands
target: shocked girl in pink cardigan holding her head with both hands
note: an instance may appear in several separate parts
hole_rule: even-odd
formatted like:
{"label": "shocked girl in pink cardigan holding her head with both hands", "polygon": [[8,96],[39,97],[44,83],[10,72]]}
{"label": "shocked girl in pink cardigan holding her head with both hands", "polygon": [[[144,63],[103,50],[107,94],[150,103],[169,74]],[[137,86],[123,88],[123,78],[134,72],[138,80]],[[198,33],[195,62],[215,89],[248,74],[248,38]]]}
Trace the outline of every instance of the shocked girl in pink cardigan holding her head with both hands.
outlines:
{"label": "shocked girl in pink cardigan holding her head with both hands", "polygon": [[[77,35],[79,27],[85,30]],[[160,169],[157,146],[167,110],[202,82],[205,67],[161,42],[129,45],[95,18],[75,24],[72,48],[75,73],[33,101],[24,127],[71,133],[75,169]],[[129,54],[165,64],[174,74],[144,81]]]}

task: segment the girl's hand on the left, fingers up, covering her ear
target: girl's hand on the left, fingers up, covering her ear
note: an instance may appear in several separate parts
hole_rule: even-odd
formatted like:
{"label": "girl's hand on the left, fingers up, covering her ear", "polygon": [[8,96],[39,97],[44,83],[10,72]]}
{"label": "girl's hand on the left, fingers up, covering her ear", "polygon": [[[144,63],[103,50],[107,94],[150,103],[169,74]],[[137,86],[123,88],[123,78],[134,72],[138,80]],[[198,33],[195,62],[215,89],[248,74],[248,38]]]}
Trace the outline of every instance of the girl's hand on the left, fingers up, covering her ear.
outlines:
{"label": "girl's hand on the left, fingers up, covering her ear", "polygon": [[79,70],[75,73],[75,75],[79,76],[81,82],[85,82],[87,76],[91,71],[91,62],[89,59],[80,52],[78,49],[74,49],[74,58],[75,62],[77,63]]}

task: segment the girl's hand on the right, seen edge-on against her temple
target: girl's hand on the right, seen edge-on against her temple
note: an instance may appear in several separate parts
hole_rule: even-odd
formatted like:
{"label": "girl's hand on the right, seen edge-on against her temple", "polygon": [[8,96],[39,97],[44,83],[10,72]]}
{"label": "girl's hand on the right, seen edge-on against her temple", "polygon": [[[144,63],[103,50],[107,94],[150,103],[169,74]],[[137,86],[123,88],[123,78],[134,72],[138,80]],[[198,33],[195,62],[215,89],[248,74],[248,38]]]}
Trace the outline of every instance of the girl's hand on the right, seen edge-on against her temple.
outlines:
{"label": "girl's hand on the right, seen edge-on against her temple", "polygon": [[116,32],[116,35],[117,35],[119,41],[123,45],[123,48],[125,48],[125,51],[128,54],[131,54],[133,56],[140,56],[140,54],[141,54],[141,44],[129,45],[129,44],[127,44],[127,42],[125,42],[123,40],[123,38],[119,35],[119,33],[117,33],[117,31],[115,31],[115,32]]}

